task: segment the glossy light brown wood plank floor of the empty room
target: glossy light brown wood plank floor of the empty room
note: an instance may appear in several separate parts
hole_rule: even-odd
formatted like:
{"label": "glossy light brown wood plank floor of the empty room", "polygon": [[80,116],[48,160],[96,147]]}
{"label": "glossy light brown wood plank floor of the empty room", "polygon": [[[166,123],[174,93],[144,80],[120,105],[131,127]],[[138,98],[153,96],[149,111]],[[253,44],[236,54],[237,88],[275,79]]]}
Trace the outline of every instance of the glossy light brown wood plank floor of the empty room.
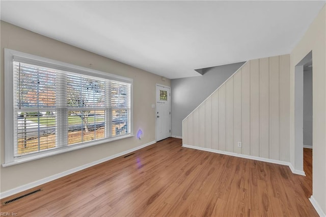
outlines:
{"label": "glossy light brown wood plank floor of the empty room", "polygon": [[182,148],[169,138],[0,208],[18,216],[318,216],[310,183],[287,166]]}

